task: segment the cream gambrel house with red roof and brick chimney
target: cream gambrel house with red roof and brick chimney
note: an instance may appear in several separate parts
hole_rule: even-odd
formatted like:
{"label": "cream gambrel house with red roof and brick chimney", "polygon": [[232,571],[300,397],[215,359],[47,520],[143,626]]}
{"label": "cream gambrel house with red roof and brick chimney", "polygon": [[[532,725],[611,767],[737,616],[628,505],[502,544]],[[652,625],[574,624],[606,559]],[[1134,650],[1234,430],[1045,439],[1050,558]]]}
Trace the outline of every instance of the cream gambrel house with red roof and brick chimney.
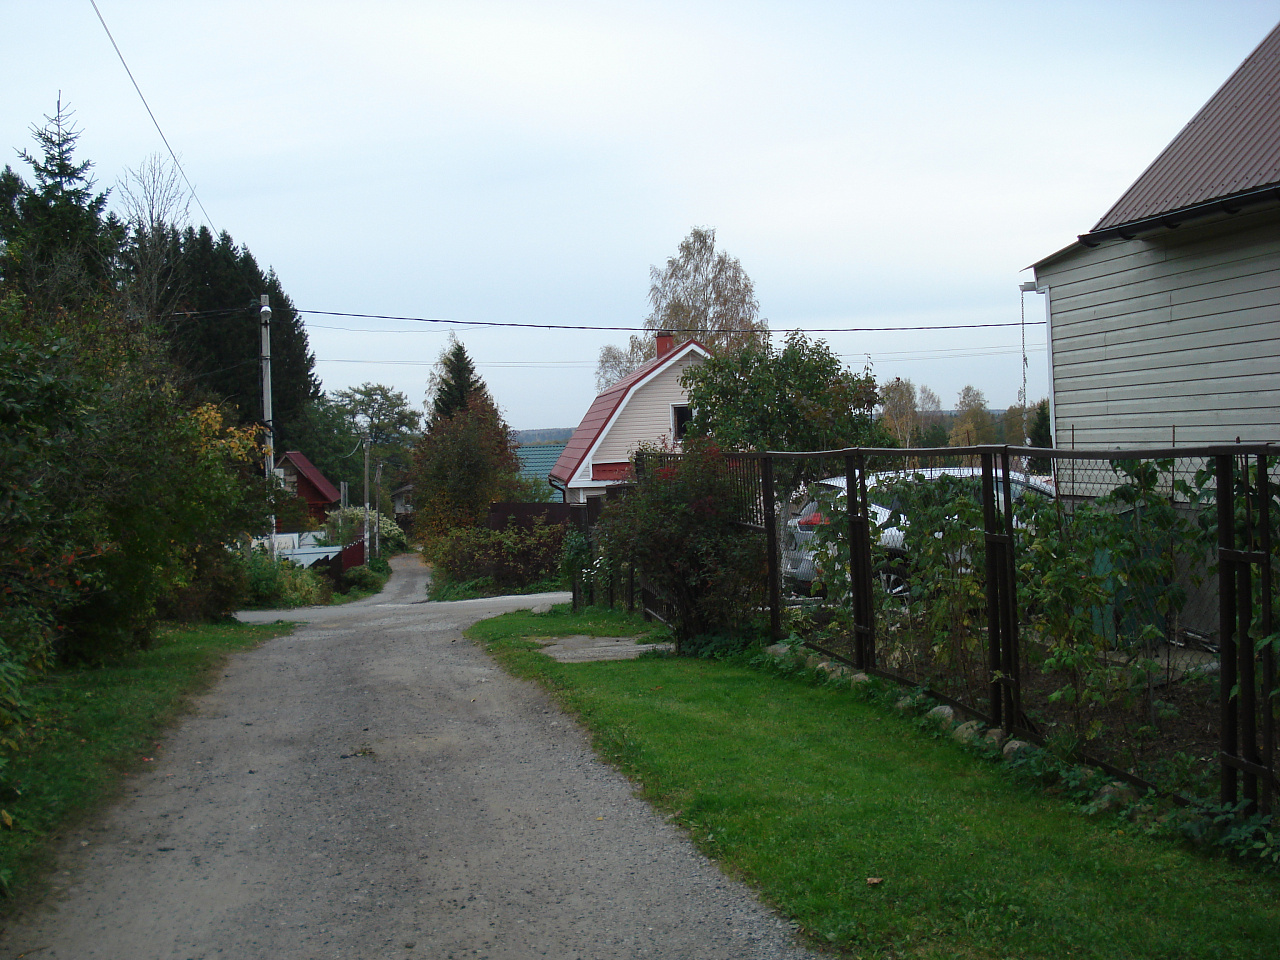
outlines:
{"label": "cream gambrel house with red roof and brick chimney", "polygon": [[641,444],[680,443],[690,416],[680,378],[710,355],[698,340],[675,346],[666,332],[657,347],[657,357],[595,398],[564,445],[548,476],[564,503],[586,503],[631,479],[631,454]]}

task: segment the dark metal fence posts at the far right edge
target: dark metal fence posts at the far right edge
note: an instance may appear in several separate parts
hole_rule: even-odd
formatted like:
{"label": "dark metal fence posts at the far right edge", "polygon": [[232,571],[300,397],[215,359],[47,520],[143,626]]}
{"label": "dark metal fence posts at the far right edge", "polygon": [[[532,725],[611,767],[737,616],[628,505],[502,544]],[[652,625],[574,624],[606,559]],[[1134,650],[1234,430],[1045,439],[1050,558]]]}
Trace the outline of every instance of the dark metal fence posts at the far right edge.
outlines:
{"label": "dark metal fence posts at the far right edge", "polygon": [[[1276,657],[1271,620],[1271,483],[1267,457],[1215,457],[1217,471],[1221,800],[1271,813],[1276,795]],[[1242,504],[1243,509],[1238,509]],[[1253,567],[1258,568],[1254,589]],[[1257,609],[1254,609],[1257,604]],[[1256,623],[1256,626],[1254,626]],[[1261,650],[1258,649],[1261,641]],[[1261,673],[1261,676],[1258,676]],[[1242,782],[1243,781],[1243,785]]]}

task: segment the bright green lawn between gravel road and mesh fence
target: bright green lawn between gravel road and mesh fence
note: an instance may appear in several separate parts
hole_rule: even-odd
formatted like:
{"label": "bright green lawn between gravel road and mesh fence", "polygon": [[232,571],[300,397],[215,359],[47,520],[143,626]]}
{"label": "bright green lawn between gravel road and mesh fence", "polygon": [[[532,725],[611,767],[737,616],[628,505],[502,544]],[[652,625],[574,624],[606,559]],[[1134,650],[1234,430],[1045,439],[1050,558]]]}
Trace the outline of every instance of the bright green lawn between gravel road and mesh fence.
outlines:
{"label": "bright green lawn between gravel road and mesh fence", "polygon": [[1280,882],[1085,817],[846,689],[731,662],[562,664],[526,639],[626,622],[557,608],[470,635],[814,942],[938,960],[1280,951]]}

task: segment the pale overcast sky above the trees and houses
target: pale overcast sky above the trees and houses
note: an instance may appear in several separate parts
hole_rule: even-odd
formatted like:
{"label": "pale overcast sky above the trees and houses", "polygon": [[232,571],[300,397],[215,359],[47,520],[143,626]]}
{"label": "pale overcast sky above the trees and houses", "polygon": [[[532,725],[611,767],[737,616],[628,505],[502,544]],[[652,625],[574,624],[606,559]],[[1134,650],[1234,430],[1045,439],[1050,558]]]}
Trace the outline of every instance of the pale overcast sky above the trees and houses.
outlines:
{"label": "pale overcast sky above the trees and houses", "polygon": [[[1088,230],[1280,0],[97,0],[204,211],[307,314],[325,389],[422,401],[453,332],[576,426],[650,264],[717,230],[774,330],[879,380],[1021,387],[1021,270]],[[0,0],[0,150],[61,91],[100,187],[165,152],[90,0]],[[1027,297],[1028,394],[1048,390]],[[927,325],[970,329],[909,330]]]}

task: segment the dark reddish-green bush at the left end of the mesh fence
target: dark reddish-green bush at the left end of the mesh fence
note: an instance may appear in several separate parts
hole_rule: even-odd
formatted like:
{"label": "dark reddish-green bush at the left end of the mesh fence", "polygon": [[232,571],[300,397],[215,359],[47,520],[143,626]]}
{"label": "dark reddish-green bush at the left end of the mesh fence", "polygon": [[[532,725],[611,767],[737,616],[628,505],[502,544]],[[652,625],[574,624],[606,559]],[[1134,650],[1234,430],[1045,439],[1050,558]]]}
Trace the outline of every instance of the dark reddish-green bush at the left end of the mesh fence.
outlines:
{"label": "dark reddish-green bush at the left end of the mesh fence", "polygon": [[636,472],[635,488],[600,515],[602,556],[635,564],[669,604],[681,652],[695,636],[754,632],[767,563],[764,534],[740,522],[754,506],[750,488],[733,483],[710,442]]}

